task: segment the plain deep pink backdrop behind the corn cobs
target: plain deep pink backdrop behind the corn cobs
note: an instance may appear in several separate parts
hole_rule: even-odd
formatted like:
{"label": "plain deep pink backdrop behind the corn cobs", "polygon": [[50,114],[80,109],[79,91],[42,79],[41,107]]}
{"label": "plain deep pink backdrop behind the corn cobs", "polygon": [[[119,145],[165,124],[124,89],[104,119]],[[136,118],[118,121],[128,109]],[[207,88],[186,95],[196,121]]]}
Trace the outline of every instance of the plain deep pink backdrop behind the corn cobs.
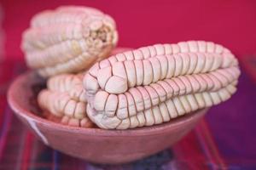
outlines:
{"label": "plain deep pink backdrop behind the corn cobs", "polygon": [[202,39],[221,43],[239,57],[256,51],[256,1],[253,0],[3,0],[6,57],[23,57],[20,35],[29,26],[33,14],[67,4],[100,8],[112,15],[119,30],[119,46],[137,48]]}

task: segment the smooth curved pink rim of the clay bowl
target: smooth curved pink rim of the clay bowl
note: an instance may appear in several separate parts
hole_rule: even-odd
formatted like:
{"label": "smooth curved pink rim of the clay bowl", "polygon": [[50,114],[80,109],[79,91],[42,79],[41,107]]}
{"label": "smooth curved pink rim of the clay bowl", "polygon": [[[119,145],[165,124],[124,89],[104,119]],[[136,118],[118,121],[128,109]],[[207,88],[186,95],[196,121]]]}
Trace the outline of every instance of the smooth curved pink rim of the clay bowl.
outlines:
{"label": "smooth curved pink rim of the clay bowl", "polygon": [[9,106],[15,112],[16,115],[25,117],[26,119],[27,117],[29,117],[34,122],[51,129],[57,129],[57,130],[66,131],[66,132],[68,131],[73,133],[83,133],[91,136],[115,136],[115,137],[147,136],[147,135],[152,135],[155,133],[163,133],[163,131],[174,130],[176,128],[179,128],[181,124],[186,124],[187,122],[190,122],[192,119],[200,118],[208,111],[208,108],[205,108],[205,109],[191,112],[184,116],[174,118],[170,122],[165,122],[159,125],[154,125],[149,127],[137,127],[137,128],[125,129],[125,130],[67,126],[61,123],[51,122],[41,116],[37,116],[36,114],[32,113],[32,111],[26,110],[26,108],[24,108],[22,105],[16,102],[15,98],[19,96],[17,96],[17,93],[15,92],[17,92],[21,87],[23,87],[20,85],[27,82],[27,79],[31,74],[34,74],[34,72],[26,71],[25,73],[21,74],[19,77],[16,77],[14,82],[11,83],[8,89],[8,94],[7,94]]}

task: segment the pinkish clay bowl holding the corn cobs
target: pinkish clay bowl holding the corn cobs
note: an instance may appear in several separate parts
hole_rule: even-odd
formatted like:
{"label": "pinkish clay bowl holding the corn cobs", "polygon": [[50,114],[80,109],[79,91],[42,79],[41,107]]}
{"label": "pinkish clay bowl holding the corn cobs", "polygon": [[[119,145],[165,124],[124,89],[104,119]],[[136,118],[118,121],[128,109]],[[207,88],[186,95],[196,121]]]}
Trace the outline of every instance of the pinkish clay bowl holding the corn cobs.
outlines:
{"label": "pinkish clay bowl holding the corn cobs", "polygon": [[8,92],[9,105],[15,115],[44,144],[96,163],[125,163],[164,150],[183,138],[207,112],[207,109],[196,111],[172,122],[130,130],[69,127],[40,116],[36,95],[43,87],[44,80],[32,72],[18,77]]}

